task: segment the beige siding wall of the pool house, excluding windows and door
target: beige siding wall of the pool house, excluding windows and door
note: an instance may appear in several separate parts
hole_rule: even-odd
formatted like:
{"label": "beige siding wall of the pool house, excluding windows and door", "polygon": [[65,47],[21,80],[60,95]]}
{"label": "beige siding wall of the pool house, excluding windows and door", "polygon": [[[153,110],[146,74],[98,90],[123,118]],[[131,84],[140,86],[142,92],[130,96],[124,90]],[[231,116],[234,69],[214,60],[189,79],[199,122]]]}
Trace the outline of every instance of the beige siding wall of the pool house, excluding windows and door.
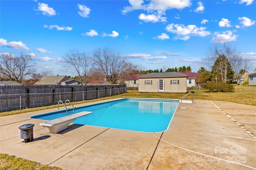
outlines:
{"label": "beige siding wall of the pool house, excluding windows and door", "polygon": [[[158,79],[164,79],[165,93],[186,93],[186,77],[159,77],[159,78],[139,78],[139,92],[158,92]],[[145,80],[152,80],[152,84],[147,85]],[[171,84],[171,80],[179,80],[179,84]]]}

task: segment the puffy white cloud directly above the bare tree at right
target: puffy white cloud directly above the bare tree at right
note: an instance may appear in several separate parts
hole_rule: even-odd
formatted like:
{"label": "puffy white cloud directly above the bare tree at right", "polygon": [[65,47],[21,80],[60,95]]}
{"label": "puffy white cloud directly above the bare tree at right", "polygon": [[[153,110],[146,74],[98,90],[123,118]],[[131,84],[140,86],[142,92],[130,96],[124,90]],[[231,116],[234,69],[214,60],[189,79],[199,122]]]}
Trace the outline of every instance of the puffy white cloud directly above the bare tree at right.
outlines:
{"label": "puffy white cloud directly above the bare tree at right", "polygon": [[223,33],[215,32],[214,34],[216,35],[216,37],[212,38],[211,41],[213,43],[223,44],[230,41],[236,41],[236,37],[238,37],[238,35],[233,35],[232,31],[225,31]]}

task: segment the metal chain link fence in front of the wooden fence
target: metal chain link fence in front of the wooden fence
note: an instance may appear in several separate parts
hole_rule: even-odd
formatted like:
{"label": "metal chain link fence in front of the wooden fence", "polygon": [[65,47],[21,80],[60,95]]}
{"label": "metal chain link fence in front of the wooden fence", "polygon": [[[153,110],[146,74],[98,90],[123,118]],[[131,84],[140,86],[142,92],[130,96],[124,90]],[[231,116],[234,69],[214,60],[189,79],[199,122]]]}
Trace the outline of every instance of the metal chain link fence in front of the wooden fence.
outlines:
{"label": "metal chain link fence in front of the wooden fence", "polygon": [[104,90],[62,93],[32,93],[0,95],[0,112],[56,105],[58,102],[92,100],[126,93],[126,87]]}

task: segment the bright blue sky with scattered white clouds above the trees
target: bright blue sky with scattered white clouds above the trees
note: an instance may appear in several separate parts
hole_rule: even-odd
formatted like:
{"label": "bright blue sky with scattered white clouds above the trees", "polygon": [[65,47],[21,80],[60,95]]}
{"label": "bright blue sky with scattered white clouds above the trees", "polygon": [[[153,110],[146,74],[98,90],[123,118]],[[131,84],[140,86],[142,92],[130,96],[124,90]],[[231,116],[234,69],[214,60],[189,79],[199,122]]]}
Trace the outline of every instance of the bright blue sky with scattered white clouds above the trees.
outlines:
{"label": "bright blue sky with scattered white clouds above the trees", "polygon": [[229,43],[256,66],[254,0],[1,0],[0,51],[31,55],[38,73],[74,76],[69,50],[108,47],[144,70],[205,65]]}

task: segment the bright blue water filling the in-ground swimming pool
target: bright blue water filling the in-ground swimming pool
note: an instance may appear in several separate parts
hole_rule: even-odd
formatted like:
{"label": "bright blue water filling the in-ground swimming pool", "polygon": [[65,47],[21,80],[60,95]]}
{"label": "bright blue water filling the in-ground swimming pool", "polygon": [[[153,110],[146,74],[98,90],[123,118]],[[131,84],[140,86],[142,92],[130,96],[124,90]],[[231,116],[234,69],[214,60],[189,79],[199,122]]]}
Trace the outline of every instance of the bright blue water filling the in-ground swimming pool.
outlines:
{"label": "bright blue water filling the in-ground swimming pool", "polygon": [[[92,111],[93,113],[78,117],[72,123],[132,131],[160,132],[168,129],[178,103],[178,100],[126,98],[75,107],[75,113],[80,111]],[[72,113],[73,109],[68,109],[68,114]],[[52,120],[63,116],[66,116],[66,109],[34,115],[31,118]]]}

